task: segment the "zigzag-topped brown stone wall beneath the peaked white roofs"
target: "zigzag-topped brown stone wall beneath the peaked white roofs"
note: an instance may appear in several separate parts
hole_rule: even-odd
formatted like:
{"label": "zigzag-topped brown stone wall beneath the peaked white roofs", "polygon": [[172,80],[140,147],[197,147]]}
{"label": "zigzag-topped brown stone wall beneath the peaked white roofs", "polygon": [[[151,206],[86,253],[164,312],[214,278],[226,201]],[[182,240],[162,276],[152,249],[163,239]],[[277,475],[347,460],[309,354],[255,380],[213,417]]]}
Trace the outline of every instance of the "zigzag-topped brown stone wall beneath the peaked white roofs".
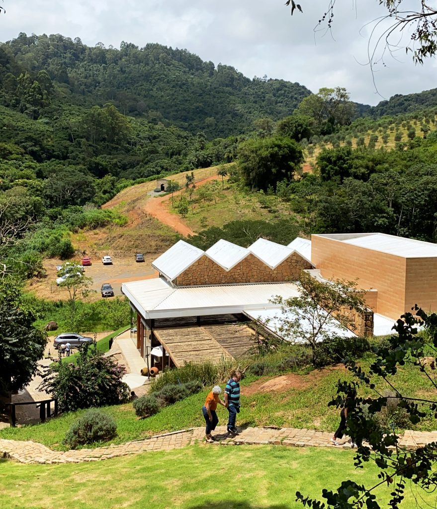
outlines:
{"label": "zigzag-topped brown stone wall beneath the peaked white roofs", "polygon": [[251,253],[226,271],[204,254],[173,282],[177,286],[201,286],[295,281],[304,269],[311,268],[311,264],[295,252],[273,270]]}

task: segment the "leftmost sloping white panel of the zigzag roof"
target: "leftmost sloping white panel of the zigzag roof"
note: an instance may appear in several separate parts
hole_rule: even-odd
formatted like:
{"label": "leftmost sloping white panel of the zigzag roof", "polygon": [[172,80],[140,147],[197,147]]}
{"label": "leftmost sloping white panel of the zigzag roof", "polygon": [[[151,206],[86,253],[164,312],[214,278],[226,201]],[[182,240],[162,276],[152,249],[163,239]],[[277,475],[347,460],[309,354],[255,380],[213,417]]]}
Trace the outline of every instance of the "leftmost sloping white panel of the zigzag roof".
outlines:
{"label": "leftmost sloping white panel of the zigzag roof", "polygon": [[172,281],[181,272],[199,260],[203,254],[204,251],[202,249],[179,240],[153,261],[152,266]]}

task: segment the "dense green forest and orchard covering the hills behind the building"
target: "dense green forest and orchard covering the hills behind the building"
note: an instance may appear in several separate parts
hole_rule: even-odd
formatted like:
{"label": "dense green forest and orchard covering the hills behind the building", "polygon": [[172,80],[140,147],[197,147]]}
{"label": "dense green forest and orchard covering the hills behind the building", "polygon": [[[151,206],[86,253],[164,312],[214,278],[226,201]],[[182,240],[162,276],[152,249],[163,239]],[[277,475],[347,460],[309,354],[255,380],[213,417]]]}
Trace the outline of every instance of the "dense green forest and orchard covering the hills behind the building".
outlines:
{"label": "dense green forest and orchard covering the hills behind the building", "polygon": [[[74,254],[71,232],[124,224],[100,209],[121,189],[232,161],[234,185],[288,204],[282,231],[435,242],[434,94],[369,109],[340,87],[251,80],[186,50],[20,34],[0,45],[0,268],[43,276],[44,257]],[[237,230],[202,232],[203,245]]]}

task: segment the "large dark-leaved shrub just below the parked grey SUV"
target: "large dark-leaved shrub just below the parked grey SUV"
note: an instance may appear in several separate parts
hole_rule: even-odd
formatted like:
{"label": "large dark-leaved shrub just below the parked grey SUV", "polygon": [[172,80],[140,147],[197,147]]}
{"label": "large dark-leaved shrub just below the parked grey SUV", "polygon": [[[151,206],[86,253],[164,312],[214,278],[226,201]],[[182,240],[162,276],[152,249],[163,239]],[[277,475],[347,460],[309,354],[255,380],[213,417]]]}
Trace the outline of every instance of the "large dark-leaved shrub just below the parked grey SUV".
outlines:
{"label": "large dark-leaved shrub just below the parked grey SUV", "polygon": [[53,362],[43,374],[39,390],[58,398],[59,411],[117,405],[129,399],[130,389],[121,381],[124,366],[84,345],[73,362]]}

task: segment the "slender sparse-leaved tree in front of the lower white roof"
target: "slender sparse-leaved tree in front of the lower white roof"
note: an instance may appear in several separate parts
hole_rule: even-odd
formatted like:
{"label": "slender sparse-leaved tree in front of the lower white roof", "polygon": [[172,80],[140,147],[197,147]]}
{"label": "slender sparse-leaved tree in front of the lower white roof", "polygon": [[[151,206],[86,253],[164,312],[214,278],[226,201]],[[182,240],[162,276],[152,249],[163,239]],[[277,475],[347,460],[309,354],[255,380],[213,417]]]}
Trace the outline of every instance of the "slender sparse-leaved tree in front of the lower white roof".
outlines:
{"label": "slender sparse-leaved tree in front of the lower white roof", "polygon": [[316,362],[317,343],[335,335],[332,330],[356,328],[353,313],[364,311],[363,293],[354,281],[321,281],[302,272],[298,282],[299,297],[271,300],[281,305],[281,315],[275,318],[281,336],[311,347]]}

